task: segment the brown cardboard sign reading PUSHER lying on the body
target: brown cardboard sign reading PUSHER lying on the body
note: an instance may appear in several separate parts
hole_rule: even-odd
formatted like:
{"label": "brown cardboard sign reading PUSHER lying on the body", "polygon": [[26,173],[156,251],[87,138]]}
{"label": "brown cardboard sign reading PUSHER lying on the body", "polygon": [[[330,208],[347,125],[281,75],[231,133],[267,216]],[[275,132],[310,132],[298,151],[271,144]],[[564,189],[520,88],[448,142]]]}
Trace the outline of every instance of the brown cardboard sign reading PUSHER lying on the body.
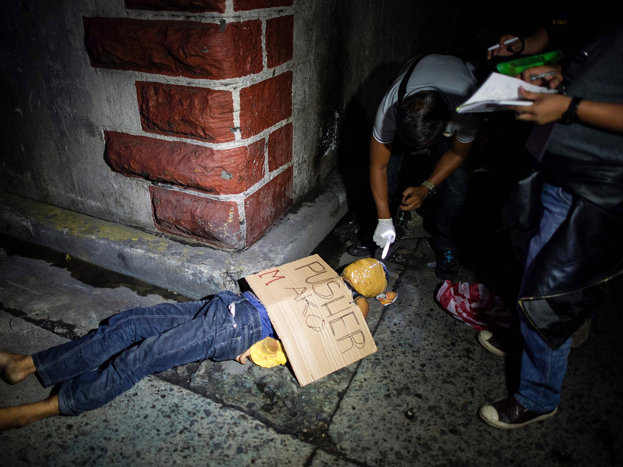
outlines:
{"label": "brown cardboard sign reading PUSHER lying on the body", "polygon": [[246,277],[264,303],[298,384],[376,352],[353,295],[318,255]]}

